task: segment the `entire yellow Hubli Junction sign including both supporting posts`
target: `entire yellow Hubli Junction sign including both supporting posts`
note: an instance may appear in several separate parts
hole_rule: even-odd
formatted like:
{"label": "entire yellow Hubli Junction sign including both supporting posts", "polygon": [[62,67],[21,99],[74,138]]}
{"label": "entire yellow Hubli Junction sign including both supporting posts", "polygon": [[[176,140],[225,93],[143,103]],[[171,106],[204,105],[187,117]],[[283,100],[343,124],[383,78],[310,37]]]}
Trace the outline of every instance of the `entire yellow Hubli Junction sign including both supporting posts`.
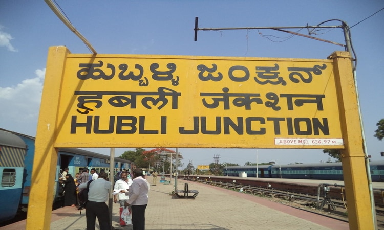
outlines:
{"label": "entire yellow Hubli Junction sign including both supporting posts", "polygon": [[[342,149],[350,228],[374,229],[350,54],[329,59],[81,55],[51,47],[27,229],[50,228],[57,148],[137,146]],[[135,66],[129,74],[128,64]]]}

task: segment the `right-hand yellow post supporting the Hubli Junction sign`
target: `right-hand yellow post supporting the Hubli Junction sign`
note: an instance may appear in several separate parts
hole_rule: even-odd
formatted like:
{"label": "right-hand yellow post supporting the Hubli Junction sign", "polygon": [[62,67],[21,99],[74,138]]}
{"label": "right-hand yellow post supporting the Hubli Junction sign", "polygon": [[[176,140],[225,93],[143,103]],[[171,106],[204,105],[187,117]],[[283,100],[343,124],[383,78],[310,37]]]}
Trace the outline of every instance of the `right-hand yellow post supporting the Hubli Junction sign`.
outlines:
{"label": "right-hand yellow post supporting the Hubli Junction sign", "polygon": [[345,149],[341,150],[350,229],[375,229],[365,155],[362,145],[357,95],[348,52],[334,52],[333,70],[340,103]]}

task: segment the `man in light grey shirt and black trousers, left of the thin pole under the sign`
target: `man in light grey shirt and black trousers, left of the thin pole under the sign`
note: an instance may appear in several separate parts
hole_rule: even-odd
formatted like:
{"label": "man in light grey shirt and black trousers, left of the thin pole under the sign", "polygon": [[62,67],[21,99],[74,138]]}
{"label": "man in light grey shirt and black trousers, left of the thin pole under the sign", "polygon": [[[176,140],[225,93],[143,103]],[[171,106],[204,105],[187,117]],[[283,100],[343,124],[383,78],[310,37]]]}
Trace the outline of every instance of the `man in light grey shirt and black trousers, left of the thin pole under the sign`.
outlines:
{"label": "man in light grey shirt and black trousers, left of the thin pole under the sign", "polygon": [[[106,178],[106,172],[100,172],[99,178],[90,183],[86,208],[87,230],[95,230],[96,217],[100,230],[111,230],[110,214],[105,203],[108,201],[111,182],[106,181]],[[87,183],[79,185],[79,189],[87,189]]]}

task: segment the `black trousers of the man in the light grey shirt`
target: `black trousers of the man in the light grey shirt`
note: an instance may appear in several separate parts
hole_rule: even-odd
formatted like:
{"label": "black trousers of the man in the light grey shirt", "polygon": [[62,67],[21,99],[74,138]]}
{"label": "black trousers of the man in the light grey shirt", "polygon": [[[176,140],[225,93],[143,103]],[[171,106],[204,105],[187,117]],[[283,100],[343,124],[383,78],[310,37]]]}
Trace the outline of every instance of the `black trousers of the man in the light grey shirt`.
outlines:
{"label": "black trousers of the man in the light grey shirt", "polygon": [[88,201],[86,208],[87,230],[95,230],[96,217],[100,230],[111,230],[110,212],[105,202]]}

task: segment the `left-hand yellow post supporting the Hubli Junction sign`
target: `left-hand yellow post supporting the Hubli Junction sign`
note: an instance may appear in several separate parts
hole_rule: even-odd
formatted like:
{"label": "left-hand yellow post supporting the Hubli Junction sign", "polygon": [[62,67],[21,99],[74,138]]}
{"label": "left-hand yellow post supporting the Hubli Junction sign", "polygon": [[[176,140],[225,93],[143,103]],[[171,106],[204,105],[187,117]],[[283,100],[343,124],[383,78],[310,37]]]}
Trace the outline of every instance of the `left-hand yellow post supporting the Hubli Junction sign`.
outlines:
{"label": "left-hand yellow post supporting the Hubli Junction sign", "polygon": [[60,131],[57,124],[60,84],[69,53],[66,47],[50,47],[48,51],[35,141],[27,230],[50,229],[57,165],[54,144],[56,132]]}

